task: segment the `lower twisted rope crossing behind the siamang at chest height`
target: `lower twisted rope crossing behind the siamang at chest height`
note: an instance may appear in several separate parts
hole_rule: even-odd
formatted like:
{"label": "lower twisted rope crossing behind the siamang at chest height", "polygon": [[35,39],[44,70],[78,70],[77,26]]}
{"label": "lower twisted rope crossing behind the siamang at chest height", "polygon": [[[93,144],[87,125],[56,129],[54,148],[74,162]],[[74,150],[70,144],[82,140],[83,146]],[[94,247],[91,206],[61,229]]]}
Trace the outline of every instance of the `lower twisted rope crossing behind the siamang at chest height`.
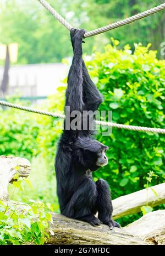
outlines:
{"label": "lower twisted rope crossing behind the siamang at chest height", "polygon": [[[6,107],[17,108],[17,109],[21,109],[21,110],[32,112],[32,113],[44,114],[46,116],[58,117],[58,118],[63,118],[63,119],[65,118],[64,114],[42,111],[42,110],[38,110],[38,109],[35,109],[35,108],[16,105],[16,104],[9,103],[9,102],[6,102],[6,101],[0,101],[0,105],[6,106]],[[128,126],[126,124],[103,122],[103,121],[95,121],[95,123],[99,124],[101,126],[115,127],[115,128],[119,128],[119,129],[123,128],[123,129],[127,129],[127,130],[135,130],[135,131],[141,131],[141,132],[151,132],[151,133],[165,134],[165,129],[161,129],[161,128],[150,128],[150,127],[142,127],[142,126]]]}

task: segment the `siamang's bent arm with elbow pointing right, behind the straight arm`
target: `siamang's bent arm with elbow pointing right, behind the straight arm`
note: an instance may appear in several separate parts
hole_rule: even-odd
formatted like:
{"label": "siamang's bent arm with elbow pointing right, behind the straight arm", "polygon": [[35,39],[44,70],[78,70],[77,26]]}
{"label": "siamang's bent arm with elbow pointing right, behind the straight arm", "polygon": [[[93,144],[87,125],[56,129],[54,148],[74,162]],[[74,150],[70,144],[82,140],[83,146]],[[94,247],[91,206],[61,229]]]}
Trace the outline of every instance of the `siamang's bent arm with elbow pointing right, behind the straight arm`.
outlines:
{"label": "siamang's bent arm with elbow pointing right, behind the straight arm", "polygon": [[86,69],[83,61],[83,100],[85,103],[85,110],[96,111],[102,103],[102,95],[98,91],[94,82],[92,82],[90,75]]}

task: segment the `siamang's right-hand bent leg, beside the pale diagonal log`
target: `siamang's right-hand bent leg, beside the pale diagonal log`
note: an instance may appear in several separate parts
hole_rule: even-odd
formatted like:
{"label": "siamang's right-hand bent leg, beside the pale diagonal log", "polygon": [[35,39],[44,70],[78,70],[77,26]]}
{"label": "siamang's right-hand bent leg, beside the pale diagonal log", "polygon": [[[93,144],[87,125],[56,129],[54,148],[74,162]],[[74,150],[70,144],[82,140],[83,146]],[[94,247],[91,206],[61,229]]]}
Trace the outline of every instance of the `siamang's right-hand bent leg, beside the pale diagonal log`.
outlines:
{"label": "siamang's right-hand bent leg, beside the pale diagonal log", "polygon": [[103,224],[107,224],[110,229],[113,227],[120,227],[120,225],[112,220],[112,201],[108,184],[105,180],[97,180],[97,201],[96,207],[98,211],[98,218]]}

